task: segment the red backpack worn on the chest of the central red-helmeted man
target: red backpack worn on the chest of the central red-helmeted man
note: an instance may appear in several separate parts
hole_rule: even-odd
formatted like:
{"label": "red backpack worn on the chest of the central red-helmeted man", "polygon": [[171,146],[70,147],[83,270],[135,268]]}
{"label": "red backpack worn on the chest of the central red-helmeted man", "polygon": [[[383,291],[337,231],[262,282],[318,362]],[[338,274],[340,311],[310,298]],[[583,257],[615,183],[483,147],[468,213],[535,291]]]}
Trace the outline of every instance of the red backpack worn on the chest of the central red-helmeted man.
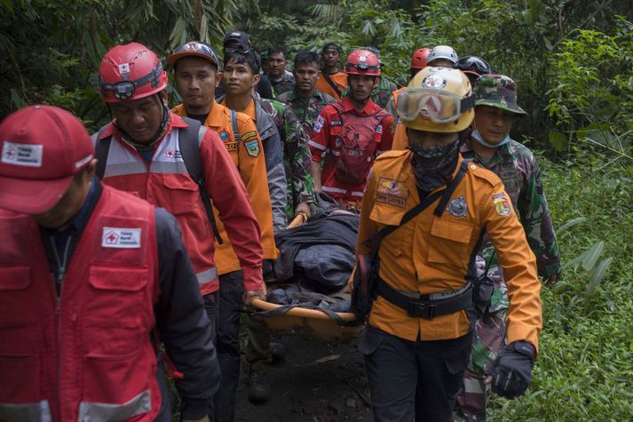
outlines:
{"label": "red backpack worn on the chest of the central red-helmeted man", "polygon": [[381,108],[373,115],[356,115],[344,112],[340,103],[333,104],[333,107],[342,124],[336,138],[340,146],[336,179],[346,185],[362,185],[376,158],[376,149],[383,134],[382,123],[389,113]]}

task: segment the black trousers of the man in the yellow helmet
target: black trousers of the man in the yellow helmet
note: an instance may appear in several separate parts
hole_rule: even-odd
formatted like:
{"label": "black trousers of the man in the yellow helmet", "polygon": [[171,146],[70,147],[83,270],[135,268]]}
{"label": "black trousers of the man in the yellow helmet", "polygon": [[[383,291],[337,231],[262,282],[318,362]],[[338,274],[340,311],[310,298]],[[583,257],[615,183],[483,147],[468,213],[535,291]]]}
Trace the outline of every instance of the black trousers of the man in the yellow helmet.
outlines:
{"label": "black trousers of the man in the yellow helmet", "polygon": [[450,340],[409,341],[368,326],[360,339],[376,422],[450,421],[471,333]]}

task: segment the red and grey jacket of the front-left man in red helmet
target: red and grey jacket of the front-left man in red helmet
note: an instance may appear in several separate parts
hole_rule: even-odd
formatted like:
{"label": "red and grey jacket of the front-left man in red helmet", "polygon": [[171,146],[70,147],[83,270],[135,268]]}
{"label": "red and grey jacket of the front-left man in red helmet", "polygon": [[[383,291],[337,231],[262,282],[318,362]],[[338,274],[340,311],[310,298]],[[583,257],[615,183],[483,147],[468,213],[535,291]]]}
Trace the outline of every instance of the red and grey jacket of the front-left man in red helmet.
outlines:
{"label": "red and grey jacket of the front-left man in red helmet", "polygon": [[102,135],[102,139],[113,136],[103,183],[135,193],[147,202],[170,211],[178,219],[182,240],[194,265],[202,295],[207,295],[218,290],[213,232],[198,185],[189,176],[180,156],[179,133],[178,127],[171,127],[147,166],[137,151],[113,135],[112,123],[109,123]]}

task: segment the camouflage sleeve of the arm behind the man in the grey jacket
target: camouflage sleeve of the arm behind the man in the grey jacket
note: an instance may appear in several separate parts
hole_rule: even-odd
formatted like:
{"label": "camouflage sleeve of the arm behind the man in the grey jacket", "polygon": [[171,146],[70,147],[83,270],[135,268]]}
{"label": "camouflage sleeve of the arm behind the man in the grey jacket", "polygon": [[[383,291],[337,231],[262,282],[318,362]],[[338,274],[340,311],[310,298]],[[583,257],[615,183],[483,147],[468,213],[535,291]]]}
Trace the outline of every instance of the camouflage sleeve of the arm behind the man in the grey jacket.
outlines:
{"label": "camouflage sleeve of the arm behind the man in the grey jacket", "polygon": [[303,126],[292,108],[277,100],[260,99],[265,112],[273,121],[281,135],[283,145],[283,165],[288,182],[288,204],[286,213],[289,220],[295,217],[299,203],[314,202],[314,180],[312,176],[312,155]]}

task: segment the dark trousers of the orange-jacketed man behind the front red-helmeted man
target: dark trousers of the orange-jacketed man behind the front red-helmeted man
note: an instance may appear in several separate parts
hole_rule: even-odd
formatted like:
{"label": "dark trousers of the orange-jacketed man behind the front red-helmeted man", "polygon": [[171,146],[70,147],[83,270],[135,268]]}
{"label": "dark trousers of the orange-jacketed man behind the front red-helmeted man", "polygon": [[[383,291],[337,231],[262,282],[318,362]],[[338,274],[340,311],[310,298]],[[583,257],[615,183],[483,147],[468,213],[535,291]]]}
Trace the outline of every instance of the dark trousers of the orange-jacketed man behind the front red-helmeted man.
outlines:
{"label": "dark trousers of the orange-jacketed man behind the front red-helmeted man", "polygon": [[220,275],[218,300],[218,362],[220,387],[213,397],[213,420],[232,422],[235,399],[240,381],[240,313],[244,286],[241,270]]}

